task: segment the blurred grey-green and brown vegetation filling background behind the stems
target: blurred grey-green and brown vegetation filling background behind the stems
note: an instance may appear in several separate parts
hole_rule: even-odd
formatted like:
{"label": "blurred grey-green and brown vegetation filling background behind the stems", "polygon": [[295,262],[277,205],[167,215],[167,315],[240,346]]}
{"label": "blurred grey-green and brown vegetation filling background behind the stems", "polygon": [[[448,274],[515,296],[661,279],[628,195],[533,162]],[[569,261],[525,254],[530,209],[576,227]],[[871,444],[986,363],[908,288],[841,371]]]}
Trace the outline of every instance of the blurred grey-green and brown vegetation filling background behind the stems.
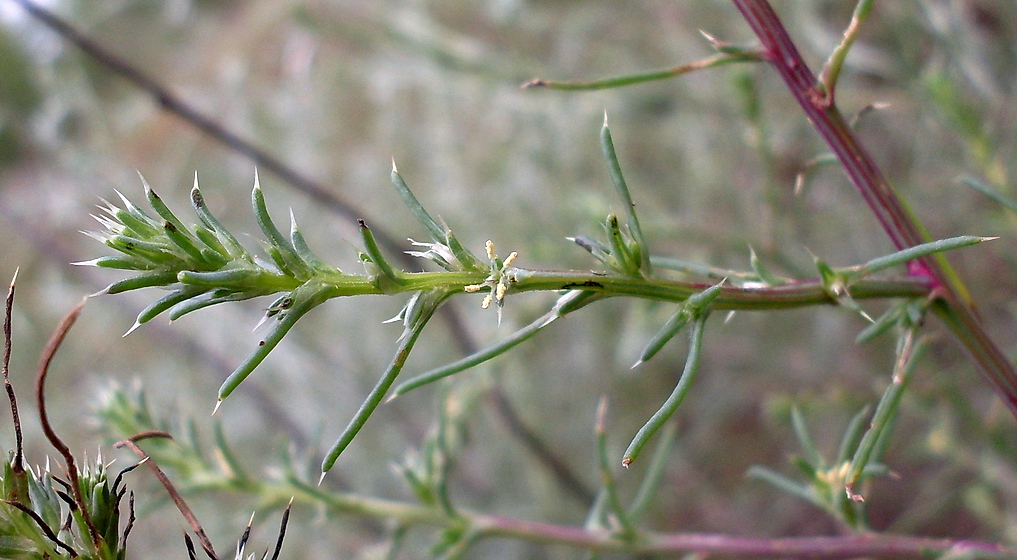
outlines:
{"label": "blurred grey-green and brown vegetation filling background behind the stems", "polygon": [[[534,77],[587,79],[690,62],[711,51],[709,32],[754,42],[720,0],[53,0],[82,33],[135,64],[198,111],[250,139],[356,208],[396,239],[424,233],[388,182],[391,159],[432,213],[482,252],[519,251],[529,267],[589,268],[565,240],[596,235],[618,211],[600,147],[606,110],[618,155],[655,254],[747,268],[752,246],[774,271],[815,275],[809,251],[834,265],[892,250],[839,169],[809,167],[823,144],[765,65],[727,66],[677,80],[596,92],[522,90]],[[806,60],[822,63],[850,18],[842,1],[777,2]],[[0,273],[20,266],[15,388],[24,418],[31,372],[57,318],[82,295],[118,279],[72,267],[107,254],[78,233],[114,190],[140,200],[137,172],[180,215],[197,172],[208,205],[234,232],[255,232],[254,164],[200,132],[108,68],[0,3]],[[886,107],[859,133],[936,237],[1003,239],[954,255],[983,319],[1012,352],[1017,340],[1014,216],[962,186],[962,174],[1014,194],[1017,165],[1017,7],[1009,0],[882,2],[847,59],[842,111]],[[805,172],[801,193],[795,177]],[[282,219],[292,207],[326,260],[357,269],[356,224],[262,172]],[[409,245],[407,244],[407,249]],[[178,324],[160,319],[121,334],[157,294],[89,302],[53,371],[56,427],[74,451],[112,454],[94,422],[113,383],[144,387],[156,414],[208,413],[224,377],[256,344],[267,302],[222,306]],[[490,344],[546,311],[547,296],[511,298],[503,324],[459,298],[467,330]],[[403,301],[334,301],[303,319],[217,415],[252,472],[288,448],[316,468],[387,364]],[[880,305],[866,306],[874,314]],[[589,506],[518,437],[500,394],[587,488],[595,488],[594,417],[609,399],[612,456],[671,390],[683,362],[670,345],[636,369],[667,306],[610,301],[570,316],[493,366],[460,374],[479,397],[453,478],[453,499],[488,513],[582,524]],[[764,464],[792,474],[792,405],[828,453],[847,419],[874,402],[893,340],[855,345],[862,320],[839,309],[714,317],[703,370],[674,422],[677,439],[646,524],[666,532],[823,535],[836,525],[810,505],[747,480]],[[938,325],[930,331],[940,332]],[[460,335],[435,322],[408,373],[462,356]],[[382,407],[325,484],[410,498],[388,465],[424,437],[436,401],[423,389]],[[52,414],[52,412],[51,412]],[[25,421],[29,458],[44,460]],[[35,431],[34,431],[35,430]],[[8,448],[13,436],[4,428]],[[905,395],[887,462],[897,475],[868,495],[874,527],[894,533],[1017,541],[1017,431],[949,336],[940,336]],[[121,461],[130,461],[121,457]],[[127,464],[124,462],[123,464]],[[640,464],[634,465],[639,470]],[[172,473],[171,473],[172,476]],[[133,475],[133,486],[151,486]],[[635,474],[620,477],[631,494]],[[183,556],[184,523],[154,490],[132,537],[140,557]],[[226,547],[257,504],[243,495],[192,495],[213,541]],[[284,557],[371,558],[386,525],[326,518],[298,507]],[[271,540],[275,521],[260,527]],[[411,536],[420,555],[429,534]],[[224,549],[225,550],[225,549]],[[569,549],[491,541],[475,558],[580,558]]]}

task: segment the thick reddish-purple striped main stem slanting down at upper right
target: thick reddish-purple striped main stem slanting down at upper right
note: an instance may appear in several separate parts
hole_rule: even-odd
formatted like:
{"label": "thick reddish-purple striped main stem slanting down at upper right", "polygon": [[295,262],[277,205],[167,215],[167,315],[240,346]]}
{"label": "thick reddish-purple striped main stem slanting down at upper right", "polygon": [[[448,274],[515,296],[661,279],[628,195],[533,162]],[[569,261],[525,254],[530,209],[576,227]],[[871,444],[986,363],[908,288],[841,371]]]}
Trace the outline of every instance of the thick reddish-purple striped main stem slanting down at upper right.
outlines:
{"label": "thick reddish-purple striped main stem slanting down at upper right", "polygon": [[[826,140],[894,246],[905,249],[931,241],[917,217],[897,196],[872,155],[861,146],[833,103],[832,85],[823,87],[802,60],[773,7],[766,0],[732,0],[763,44],[766,58],[780,74],[809,122]],[[940,304],[934,312],[978,364],[983,376],[1017,417],[1017,370],[990,338],[975,315],[960,278],[942,255],[909,263],[911,274],[932,282]]]}

